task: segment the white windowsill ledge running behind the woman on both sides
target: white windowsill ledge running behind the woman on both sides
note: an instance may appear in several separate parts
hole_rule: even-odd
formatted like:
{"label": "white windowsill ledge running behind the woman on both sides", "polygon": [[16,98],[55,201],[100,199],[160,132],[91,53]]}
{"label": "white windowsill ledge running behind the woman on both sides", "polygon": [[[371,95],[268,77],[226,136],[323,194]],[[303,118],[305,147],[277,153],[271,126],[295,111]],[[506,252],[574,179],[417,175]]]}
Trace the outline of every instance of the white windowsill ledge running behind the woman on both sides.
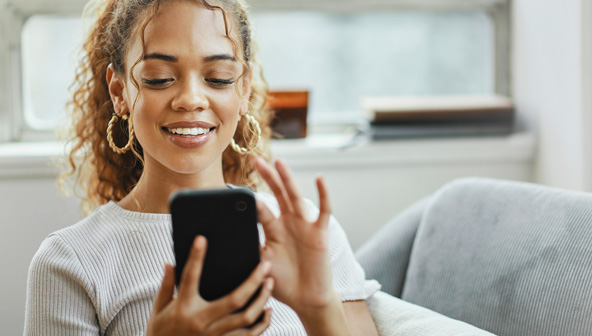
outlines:
{"label": "white windowsill ledge running behind the woman on both sides", "polygon": [[[534,161],[536,137],[520,132],[499,137],[463,137],[361,142],[351,134],[313,134],[305,139],[274,140],[275,157],[295,169],[390,167]],[[64,143],[0,144],[0,179],[54,177]]]}

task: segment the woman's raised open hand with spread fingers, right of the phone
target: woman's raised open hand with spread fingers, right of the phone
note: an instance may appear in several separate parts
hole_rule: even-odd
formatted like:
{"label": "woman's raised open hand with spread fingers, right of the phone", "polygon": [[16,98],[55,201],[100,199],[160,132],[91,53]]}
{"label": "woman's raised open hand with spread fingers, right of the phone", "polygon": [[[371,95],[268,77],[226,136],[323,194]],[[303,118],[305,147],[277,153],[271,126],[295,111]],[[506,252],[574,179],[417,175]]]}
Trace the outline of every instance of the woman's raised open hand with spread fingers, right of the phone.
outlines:
{"label": "woman's raised open hand with spread fingers, right of the phone", "polygon": [[331,215],[329,195],[322,178],[317,178],[318,218],[308,218],[306,204],[287,166],[275,162],[276,170],[257,159],[255,168],[270,187],[279,204],[276,218],[257,201],[259,221],[265,231],[261,259],[273,265],[271,276],[276,287],[273,296],[299,315],[322,309],[336,302],[339,295],[331,281],[328,228]]}

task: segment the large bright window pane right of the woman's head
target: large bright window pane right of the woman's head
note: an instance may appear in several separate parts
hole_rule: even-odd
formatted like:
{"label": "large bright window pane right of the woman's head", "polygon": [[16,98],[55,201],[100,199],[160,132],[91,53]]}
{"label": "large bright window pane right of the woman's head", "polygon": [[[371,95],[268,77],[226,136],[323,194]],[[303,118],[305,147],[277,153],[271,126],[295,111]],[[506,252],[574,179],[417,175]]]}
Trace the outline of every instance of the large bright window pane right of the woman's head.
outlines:
{"label": "large bright window pane right of the woman's head", "polygon": [[254,16],[271,89],[308,89],[309,121],[355,122],[366,96],[488,94],[494,34],[481,12]]}

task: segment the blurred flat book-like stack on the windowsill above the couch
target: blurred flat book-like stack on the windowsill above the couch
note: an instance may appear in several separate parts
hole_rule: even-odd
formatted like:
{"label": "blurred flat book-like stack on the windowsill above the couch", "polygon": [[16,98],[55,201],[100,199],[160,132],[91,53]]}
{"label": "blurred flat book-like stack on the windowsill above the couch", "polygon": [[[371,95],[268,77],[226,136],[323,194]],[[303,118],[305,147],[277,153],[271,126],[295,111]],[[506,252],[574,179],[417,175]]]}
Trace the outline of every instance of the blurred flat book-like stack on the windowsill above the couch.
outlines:
{"label": "blurred flat book-like stack on the windowsill above the couch", "polygon": [[514,129],[514,105],[505,96],[365,98],[372,139],[500,135]]}

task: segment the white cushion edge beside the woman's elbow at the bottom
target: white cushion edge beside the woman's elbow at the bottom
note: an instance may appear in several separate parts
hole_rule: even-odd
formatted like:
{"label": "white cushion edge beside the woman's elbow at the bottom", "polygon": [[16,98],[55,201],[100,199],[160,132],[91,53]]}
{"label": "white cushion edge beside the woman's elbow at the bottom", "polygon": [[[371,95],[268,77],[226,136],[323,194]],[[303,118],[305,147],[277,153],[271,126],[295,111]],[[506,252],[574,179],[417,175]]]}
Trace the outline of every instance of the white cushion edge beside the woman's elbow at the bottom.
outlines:
{"label": "white cushion edge beside the woman's elbow at the bottom", "polygon": [[384,292],[366,300],[380,336],[493,335]]}

